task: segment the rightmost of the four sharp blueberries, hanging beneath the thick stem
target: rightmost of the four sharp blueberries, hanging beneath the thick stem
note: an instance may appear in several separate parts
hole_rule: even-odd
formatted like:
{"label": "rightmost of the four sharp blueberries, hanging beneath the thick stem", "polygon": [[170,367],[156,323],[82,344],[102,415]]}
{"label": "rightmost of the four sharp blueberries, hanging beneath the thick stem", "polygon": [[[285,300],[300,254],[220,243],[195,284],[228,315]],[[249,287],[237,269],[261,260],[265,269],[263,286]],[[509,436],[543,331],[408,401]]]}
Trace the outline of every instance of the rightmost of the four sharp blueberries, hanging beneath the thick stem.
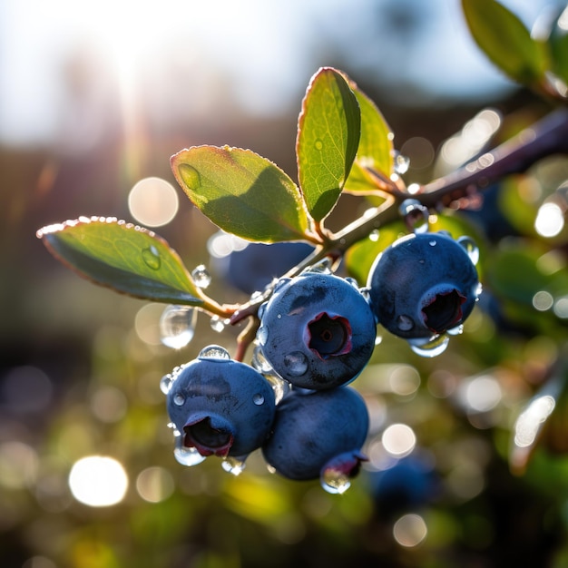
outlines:
{"label": "rightmost of the four sharp blueberries, hanging beneath the thick stem", "polygon": [[441,232],[394,242],[375,260],[367,286],[378,323],[401,338],[431,338],[458,327],[479,295],[474,263]]}

